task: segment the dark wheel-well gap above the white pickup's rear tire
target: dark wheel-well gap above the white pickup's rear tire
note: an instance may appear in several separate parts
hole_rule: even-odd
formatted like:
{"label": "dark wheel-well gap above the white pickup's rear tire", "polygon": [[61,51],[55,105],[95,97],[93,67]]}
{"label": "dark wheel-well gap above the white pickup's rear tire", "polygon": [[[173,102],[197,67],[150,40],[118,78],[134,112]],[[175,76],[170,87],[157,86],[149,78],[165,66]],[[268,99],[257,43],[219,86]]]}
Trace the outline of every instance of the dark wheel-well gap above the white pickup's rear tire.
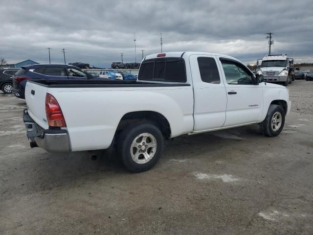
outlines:
{"label": "dark wheel-well gap above the white pickup's rear tire", "polygon": [[150,123],[156,125],[164,138],[171,137],[171,127],[169,121],[162,114],[155,111],[135,111],[125,114],[118,123],[115,135],[134,122],[144,121],[149,121]]}

